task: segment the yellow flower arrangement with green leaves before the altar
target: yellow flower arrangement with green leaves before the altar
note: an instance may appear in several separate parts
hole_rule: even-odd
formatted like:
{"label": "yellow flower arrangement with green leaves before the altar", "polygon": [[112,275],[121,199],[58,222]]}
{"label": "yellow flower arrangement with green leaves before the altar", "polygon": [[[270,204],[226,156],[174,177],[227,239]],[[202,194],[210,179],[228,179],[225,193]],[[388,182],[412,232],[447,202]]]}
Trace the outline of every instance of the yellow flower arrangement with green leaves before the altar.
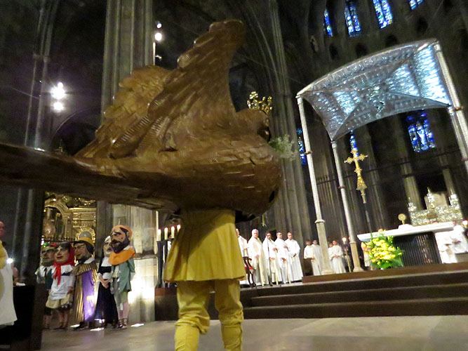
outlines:
{"label": "yellow flower arrangement with green leaves before the altar", "polygon": [[378,237],[371,237],[366,242],[369,249],[370,264],[373,267],[386,270],[387,268],[403,267],[403,251],[395,247],[393,237],[385,237],[385,231],[379,230]]}

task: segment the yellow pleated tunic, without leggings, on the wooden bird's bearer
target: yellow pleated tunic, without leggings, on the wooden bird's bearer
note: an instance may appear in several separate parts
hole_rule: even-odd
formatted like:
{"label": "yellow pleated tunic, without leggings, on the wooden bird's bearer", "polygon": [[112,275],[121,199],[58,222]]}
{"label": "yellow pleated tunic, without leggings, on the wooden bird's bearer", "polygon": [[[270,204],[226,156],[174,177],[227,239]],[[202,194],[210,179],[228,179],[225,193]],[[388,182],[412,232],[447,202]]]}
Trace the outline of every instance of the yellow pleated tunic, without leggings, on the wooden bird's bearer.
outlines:
{"label": "yellow pleated tunic, without leggings, on the wooden bird's bearer", "polygon": [[243,279],[245,270],[235,213],[227,209],[182,211],[182,227],[169,251],[167,282]]}

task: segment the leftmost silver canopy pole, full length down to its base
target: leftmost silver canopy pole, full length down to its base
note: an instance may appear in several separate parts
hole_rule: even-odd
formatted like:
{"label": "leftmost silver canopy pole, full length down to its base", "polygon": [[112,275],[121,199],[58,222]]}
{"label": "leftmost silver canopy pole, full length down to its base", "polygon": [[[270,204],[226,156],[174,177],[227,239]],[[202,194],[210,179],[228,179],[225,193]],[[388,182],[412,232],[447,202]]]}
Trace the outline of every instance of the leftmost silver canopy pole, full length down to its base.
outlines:
{"label": "leftmost silver canopy pole, full length down to its base", "polygon": [[330,259],[328,258],[328,241],[325,232],[325,220],[322,218],[320,209],[319,190],[317,189],[317,183],[315,179],[314,163],[312,160],[312,151],[310,150],[309,133],[307,132],[307,123],[305,120],[304,102],[302,98],[297,97],[297,105],[299,105],[300,123],[302,125],[302,135],[304,135],[304,147],[305,154],[307,156],[307,166],[309,167],[310,183],[312,185],[312,196],[314,197],[314,207],[316,214],[316,227],[319,233],[319,243],[322,253],[323,261],[323,274],[334,274],[331,269]]}

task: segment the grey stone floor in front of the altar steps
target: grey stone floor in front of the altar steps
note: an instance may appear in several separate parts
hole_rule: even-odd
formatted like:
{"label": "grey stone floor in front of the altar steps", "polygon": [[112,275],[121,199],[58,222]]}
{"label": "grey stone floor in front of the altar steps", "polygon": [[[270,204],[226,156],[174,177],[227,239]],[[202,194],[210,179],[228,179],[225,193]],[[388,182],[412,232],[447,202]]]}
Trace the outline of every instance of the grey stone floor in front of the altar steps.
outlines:
{"label": "grey stone floor in front of the altar steps", "polygon": [[[249,319],[244,351],[463,351],[468,316]],[[126,331],[46,331],[42,350],[172,351],[174,322],[152,322]],[[222,351],[218,321],[201,336],[199,350]]]}

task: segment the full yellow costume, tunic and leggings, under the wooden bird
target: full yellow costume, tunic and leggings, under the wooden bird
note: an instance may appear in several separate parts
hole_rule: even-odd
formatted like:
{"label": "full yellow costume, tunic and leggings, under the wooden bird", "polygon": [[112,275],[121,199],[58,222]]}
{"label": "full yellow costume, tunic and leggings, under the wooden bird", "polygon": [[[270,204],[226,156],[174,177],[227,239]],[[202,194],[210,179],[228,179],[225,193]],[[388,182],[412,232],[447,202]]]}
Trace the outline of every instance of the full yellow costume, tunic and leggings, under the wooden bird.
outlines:
{"label": "full yellow costume, tunic and leggings, under the wooden bird", "polygon": [[234,211],[182,211],[182,230],[169,251],[164,279],[178,283],[175,350],[196,350],[210,326],[210,291],[220,312],[226,350],[241,350],[243,321],[239,279],[245,276]]}

